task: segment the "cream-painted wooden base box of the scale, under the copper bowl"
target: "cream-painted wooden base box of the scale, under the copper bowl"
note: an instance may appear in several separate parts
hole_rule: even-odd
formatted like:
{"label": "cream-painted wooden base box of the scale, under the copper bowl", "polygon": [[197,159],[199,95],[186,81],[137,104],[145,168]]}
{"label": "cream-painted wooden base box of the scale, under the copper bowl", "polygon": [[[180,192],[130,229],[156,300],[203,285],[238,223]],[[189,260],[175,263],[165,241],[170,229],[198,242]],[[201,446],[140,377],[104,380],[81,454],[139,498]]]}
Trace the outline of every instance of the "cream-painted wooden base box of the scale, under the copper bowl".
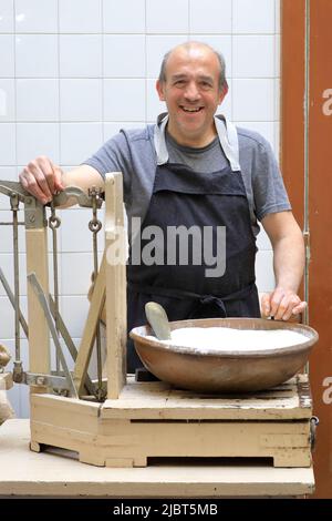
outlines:
{"label": "cream-painted wooden base box of the scale, under the copper bowl", "polygon": [[118,399],[103,405],[31,396],[31,449],[74,450],[80,461],[101,467],[146,467],[160,457],[259,457],[274,467],[310,468],[311,416],[305,375],[243,396],[128,380]]}

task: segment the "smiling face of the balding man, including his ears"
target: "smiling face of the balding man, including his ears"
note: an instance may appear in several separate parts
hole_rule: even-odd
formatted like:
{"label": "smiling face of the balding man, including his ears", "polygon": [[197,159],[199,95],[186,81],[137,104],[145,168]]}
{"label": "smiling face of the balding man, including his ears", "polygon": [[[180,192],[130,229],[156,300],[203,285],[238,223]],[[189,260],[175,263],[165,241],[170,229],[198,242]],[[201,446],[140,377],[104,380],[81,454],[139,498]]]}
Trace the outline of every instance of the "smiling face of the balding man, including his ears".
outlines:
{"label": "smiling face of the balding man, including his ears", "polygon": [[214,135],[214,115],[227,89],[219,89],[219,62],[207,48],[178,48],[168,58],[166,81],[157,81],[169,114],[168,132],[181,144],[204,146]]}

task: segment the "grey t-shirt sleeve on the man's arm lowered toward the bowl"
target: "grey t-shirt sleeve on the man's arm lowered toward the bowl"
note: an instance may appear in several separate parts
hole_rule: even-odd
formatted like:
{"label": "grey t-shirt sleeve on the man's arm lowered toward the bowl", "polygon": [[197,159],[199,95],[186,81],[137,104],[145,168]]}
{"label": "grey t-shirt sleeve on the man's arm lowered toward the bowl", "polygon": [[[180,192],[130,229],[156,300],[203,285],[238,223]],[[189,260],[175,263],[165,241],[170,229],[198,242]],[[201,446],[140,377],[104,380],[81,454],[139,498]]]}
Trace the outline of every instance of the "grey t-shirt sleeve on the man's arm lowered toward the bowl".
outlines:
{"label": "grey t-shirt sleeve on the man's arm lowered toward the bowl", "polygon": [[252,190],[258,221],[268,214],[291,210],[277,159],[263,137],[256,144],[253,162]]}

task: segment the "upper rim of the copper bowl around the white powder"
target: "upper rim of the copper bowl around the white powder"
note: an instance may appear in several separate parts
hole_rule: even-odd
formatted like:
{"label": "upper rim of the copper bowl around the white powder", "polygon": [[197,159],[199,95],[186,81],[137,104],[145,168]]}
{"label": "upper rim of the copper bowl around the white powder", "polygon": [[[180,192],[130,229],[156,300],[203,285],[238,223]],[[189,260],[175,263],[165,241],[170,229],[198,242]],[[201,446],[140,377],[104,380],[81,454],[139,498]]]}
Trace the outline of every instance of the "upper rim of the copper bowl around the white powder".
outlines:
{"label": "upper rim of the copper bowl around the white powder", "polygon": [[[220,324],[220,320],[225,320],[224,325]],[[229,318],[198,318],[198,319],[189,319],[189,320],[176,320],[176,321],[170,321],[170,330],[173,329],[179,329],[181,327],[216,327],[216,324],[218,324],[217,327],[231,327],[230,325],[227,325],[230,321],[234,325],[240,324],[242,327],[234,327],[235,329],[251,329],[251,330],[273,330],[273,329],[287,329],[287,330],[293,330],[295,333],[302,333],[303,335],[308,336],[308,341],[304,341],[302,344],[295,344],[292,346],[284,346],[284,347],[277,347],[273,349],[248,349],[248,350],[222,350],[222,351],[216,351],[216,350],[209,350],[206,349],[204,353],[199,351],[196,348],[193,347],[186,347],[186,346],[178,346],[178,345],[172,345],[167,346],[164,343],[159,341],[157,338],[156,340],[152,340],[151,338],[147,339],[146,335],[142,335],[143,331],[146,331],[148,335],[153,335],[153,330],[149,325],[143,325],[143,326],[137,326],[134,327],[129,331],[129,337],[134,340],[135,345],[136,343],[143,344],[145,347],[154,347],[157,350],[160,351],[167,351],[167,353],[173,353],[173,354],[178,354],[178,355],[191,355],[191,356],[197,356],[197,357],[216,357],[216,358],[251,358],[251,357],[266,357],[266,356],[278,356],[278,355],[293,355],[294,351],[298,354],[302,351],[307,351],[309,348],[312,348],[312,346],[319,340],[319,334],[315,331],[310,326],[307,326],[304,324],[298,324],[298,323],[288,323],[288,321],[282,321],[282,320],[268,320],[266,318],[241,318],[241,317],[229,317]],[[195,323],[195,325],[193,325]],[[261,327],[251,327],[249,328],[248,325],[256,325],[256,326],[261,326]],[[247,326],[247,327],[246,327]],[[267,326],[267,327],[262,327]]]}

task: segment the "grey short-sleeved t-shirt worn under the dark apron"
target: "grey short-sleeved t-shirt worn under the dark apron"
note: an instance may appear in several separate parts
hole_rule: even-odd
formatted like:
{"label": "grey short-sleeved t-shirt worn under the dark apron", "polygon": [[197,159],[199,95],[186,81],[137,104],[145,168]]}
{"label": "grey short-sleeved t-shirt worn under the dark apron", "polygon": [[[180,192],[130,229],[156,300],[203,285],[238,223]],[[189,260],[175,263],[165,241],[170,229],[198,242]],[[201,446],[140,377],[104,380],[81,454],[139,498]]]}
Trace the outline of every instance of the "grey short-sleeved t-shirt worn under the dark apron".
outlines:
{"label": "grey short-sleeved t-shirt worn under the dark apron", "polygon": [[[291,206],[270,144],[257,132],[238,127],[237,134],[251,226],[257,235],[257,219],[261,221],[270,213],[291,210]],[[141,217],[143,222],[149,205],[158,162],[154,137],[155,125],[147,125],[143,130],[122,130],[84,162],[103,176],[107,172],[123,173],[129,223],[132,217]],[[200,172],[218,171],[228,164],[218,137],[198,150],[178,145],[167,132],[164,139],[172,162],[185,163]]]}

